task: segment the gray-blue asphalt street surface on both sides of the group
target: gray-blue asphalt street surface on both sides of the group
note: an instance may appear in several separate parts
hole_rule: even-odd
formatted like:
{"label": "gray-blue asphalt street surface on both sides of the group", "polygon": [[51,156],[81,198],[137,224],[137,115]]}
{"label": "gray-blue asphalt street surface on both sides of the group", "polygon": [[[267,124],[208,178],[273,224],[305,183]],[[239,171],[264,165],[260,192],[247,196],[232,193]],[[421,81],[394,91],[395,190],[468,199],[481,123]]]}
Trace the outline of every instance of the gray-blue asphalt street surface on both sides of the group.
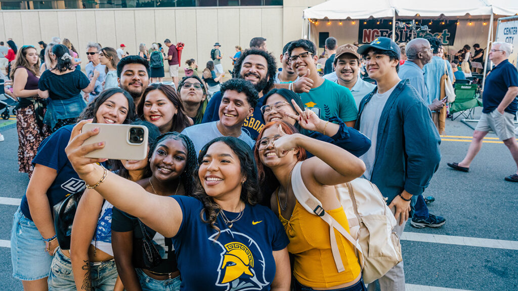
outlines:
{"label": "gray-blue asphalt street surface on both sides of the group", "polygon": [[[8,247],[18,206],[6,205],[3,197],[21,198],[28,178],[18,173],[16,128],[5,122],[10,120],[0,121],[0,289],[22,290],[11,275]],[[503,180],[515,164],[490,133],[469,173],[449,169],[447,162],[464,158],[473,130],[460,118],[448,120],[446,128],[441,163],[425,196],[436,198],[430,213],[447,222],[434,229],[407,224],[401,240],[407,290],[518,290],[518,183]]]}

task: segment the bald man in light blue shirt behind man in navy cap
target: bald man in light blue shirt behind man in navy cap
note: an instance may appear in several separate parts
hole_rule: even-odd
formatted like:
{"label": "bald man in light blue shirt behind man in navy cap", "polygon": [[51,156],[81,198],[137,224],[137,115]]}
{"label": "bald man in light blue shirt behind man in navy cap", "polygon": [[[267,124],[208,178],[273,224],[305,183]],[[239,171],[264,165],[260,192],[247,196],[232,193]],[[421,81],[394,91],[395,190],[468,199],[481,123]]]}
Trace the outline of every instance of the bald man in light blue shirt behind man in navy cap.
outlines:
{"label": "bald man in light blue shirt behind man in navy cap", "polygon": [[[431,60],[431,47],[430,42],[424,38],[415,38],[408,42],[405,51],[407,53],[407,60],[399,68],[399,78],[401,80],[407,79],[410,85],[414,87],[421,98],[428,96],[428,90],[424,83],[423,67]],[[428,108],[433,111],[440,110],[444,103],[435,99]],[[435,216],[428,213],[428,207],[424,201],[423,195],[418,195],[417,201],[414,206],[414,215],[410,221],[410,225],[417,228],[428,227],[439,227],[446,223],[446,220],[441,216]]]}

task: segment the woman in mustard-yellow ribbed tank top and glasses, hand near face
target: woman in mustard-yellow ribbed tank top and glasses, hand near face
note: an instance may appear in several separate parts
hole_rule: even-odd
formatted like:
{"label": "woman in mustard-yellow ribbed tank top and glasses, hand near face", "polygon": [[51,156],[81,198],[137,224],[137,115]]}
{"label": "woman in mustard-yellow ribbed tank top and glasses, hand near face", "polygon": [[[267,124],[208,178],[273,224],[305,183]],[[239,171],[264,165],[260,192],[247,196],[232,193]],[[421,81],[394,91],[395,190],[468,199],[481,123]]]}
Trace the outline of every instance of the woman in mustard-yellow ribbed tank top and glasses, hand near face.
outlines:
{"label": "woman in mustard-yellow ribbed tank top and glasses, hand near face", "polygon": [[[306,121],[305,116],[300,118]],[[314,157],[306,159],[306,151]],[[306,211],[295,197],[295,192],[309,192],[322,204],[320,209],[349,232],[334,186],[361,176],[365,171],[362,160],[336,145],[300,134],[282,120],[266,124],[257,136],[254,156],[260,185],[278,186],[270,207],[290,238],[295,290],[366,291],[354,246],[341,234],[331,237],[329,225]],[[330,260],[333,240],[341,255],[341,269]]]}

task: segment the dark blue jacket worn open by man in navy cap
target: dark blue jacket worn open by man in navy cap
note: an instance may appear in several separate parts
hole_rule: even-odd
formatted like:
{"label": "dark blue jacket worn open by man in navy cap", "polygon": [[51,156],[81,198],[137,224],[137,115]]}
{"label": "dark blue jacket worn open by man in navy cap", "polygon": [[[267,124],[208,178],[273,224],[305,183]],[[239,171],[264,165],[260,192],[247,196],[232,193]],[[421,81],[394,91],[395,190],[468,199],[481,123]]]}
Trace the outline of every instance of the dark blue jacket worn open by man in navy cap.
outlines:
{"label": "dark blue jacket worn open by man in navy cap", "polygon": [[[365,104],[376,92],[373,90],[360,103],[356,129]],[[439,167],[440,141],[431,112],[419,93],[408,80],[400,81],[381,113],[371,176],[371,182],[388,198],[387,203],[403,190],[414,196],[424,192]]]}

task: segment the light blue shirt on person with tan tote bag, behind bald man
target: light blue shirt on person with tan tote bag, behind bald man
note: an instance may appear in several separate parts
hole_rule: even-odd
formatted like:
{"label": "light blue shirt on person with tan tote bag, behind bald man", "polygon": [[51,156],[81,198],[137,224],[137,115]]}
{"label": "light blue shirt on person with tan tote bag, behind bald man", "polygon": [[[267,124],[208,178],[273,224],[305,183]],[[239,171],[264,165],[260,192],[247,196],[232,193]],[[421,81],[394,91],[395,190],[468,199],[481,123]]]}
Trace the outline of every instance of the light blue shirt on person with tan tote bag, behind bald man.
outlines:
{"label": "light blue shirt on person with tan tote bag, behind bald man", "polygon": [[444,66],[448,72],[448,78],[453,81],[452,67],[448,65],[447,60],[444,60],[441,57],[432,57],[430,63],[423,67],[424,82],[426,84],[426,88],[428,88],[428,97],[423,99],[427,105],[431,104],[435,99],[439,100],[441,95],[441,76],[444,74]]}

